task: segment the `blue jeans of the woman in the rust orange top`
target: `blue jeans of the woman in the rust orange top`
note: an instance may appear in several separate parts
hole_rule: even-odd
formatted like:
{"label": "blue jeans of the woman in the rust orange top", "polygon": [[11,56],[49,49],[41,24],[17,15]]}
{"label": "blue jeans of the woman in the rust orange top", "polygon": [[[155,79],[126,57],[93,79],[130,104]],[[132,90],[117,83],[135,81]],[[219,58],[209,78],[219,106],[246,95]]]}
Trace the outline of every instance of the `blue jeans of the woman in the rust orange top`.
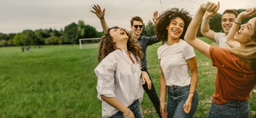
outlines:
{"label": "blue jeans of the woman in the rust orange top", "polygon": [[210,111],[207,118],[249,118],[250,106],[246,101],[228,101],[224,104],[216,104],[211,100]]}

